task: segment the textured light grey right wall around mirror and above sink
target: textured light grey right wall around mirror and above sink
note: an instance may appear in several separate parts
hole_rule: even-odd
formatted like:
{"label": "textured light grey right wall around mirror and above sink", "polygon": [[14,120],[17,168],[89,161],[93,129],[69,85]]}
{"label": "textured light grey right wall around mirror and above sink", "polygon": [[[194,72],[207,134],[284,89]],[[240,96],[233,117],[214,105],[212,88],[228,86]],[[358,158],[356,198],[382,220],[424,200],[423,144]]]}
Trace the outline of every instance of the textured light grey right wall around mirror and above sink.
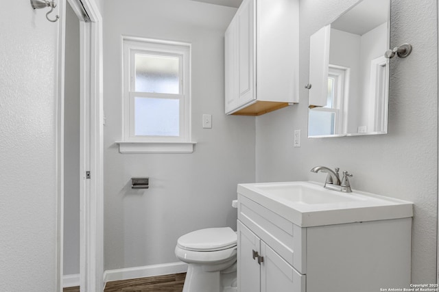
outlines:
{"label": "textured light grey right wall around mirror and above sink", "polygon": [[[309,36],[356,0],[300,1],[300,82],[309,78]],[[256,120],[257,181],[324,182],[316,165],[354,174],[354,189],[414,202],[412,282],[436,282],[438,168],[438,56],[436,1],[392,1],[391,46],[414,46],[406,59],[392,59],[389,134],[307,139],[307,90],[300,104]],[[293,133],[302,130],[302,146]],[[391,237],[391,235],[389,235]],[[361,252],[361,251],[359,251]]]}

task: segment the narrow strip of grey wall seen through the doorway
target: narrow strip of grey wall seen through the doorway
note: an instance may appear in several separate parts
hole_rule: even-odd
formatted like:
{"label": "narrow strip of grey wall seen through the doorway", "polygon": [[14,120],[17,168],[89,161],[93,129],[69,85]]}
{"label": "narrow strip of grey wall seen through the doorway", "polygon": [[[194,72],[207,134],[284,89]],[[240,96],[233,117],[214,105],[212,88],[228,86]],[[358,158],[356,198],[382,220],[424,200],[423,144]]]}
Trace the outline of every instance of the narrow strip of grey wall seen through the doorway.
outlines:
{"label": "narrow strip of grey wall seen through the doorway", "polygon": [[63,273],[80,273],[80,21],[66,7]]}

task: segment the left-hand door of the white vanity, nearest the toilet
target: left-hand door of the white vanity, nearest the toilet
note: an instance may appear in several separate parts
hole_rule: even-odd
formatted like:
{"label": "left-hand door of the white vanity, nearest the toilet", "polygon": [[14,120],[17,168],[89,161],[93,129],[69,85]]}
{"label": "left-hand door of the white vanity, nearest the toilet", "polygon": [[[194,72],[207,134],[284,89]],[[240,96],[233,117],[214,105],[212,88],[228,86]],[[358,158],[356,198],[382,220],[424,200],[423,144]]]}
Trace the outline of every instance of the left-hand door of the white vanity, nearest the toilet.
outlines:
{"label": "left-hand door of the white vanity, nearest the toilet", "polygon": [[[254,235],[239,220],[238,230],[238,257],[237,257],[237,284],[240,292],[259,292],[261,283],[259,264],[253,258],[253,252],[260,253],[261,240]],[[274,290],[273,290],[274,291]]]}

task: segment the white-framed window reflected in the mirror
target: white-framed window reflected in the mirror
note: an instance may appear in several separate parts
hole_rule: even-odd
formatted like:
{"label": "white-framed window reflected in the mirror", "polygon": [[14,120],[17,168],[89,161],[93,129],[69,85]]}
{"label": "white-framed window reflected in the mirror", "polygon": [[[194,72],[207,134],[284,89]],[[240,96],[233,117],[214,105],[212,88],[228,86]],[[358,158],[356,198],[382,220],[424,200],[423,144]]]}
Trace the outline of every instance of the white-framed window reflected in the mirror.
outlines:
{"label": "white-framed window reflected in the mirror", "polygon": [[346,113],[344,113],[345,85],[349,70],[329,65],[327,105],[309,110],[309,135],[335,135],[344,133]]}

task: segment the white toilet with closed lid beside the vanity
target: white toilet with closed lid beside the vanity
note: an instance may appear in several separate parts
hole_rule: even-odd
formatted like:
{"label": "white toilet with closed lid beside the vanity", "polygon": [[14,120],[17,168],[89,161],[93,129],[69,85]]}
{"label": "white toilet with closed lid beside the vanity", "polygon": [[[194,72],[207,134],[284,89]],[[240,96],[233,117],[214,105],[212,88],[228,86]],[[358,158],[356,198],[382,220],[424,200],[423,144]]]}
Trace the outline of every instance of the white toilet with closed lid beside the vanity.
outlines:
{"label": "white toilet with closed lid beside the vanity", "polygon": [[182,235],[175,253],[188,264],[183,292],[237,291],[237,235],[232,228],[206,228]]}

